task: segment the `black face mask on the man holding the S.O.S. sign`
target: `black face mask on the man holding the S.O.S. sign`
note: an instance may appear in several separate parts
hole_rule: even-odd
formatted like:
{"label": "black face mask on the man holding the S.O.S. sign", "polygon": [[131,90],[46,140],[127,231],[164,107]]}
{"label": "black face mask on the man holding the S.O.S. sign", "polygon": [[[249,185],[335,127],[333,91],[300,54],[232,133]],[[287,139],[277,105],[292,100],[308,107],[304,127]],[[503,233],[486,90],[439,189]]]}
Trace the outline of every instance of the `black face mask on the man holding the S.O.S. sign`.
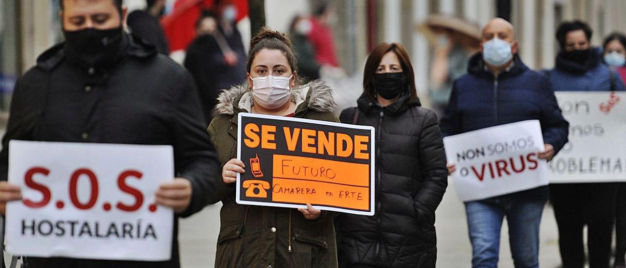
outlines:
{"label": "black face mask on the man holding the S.O.S. sign", "polygon": [[64,52],[73,63],[85,68],[104,67],[120,58],[122,28],[63,31]]}

